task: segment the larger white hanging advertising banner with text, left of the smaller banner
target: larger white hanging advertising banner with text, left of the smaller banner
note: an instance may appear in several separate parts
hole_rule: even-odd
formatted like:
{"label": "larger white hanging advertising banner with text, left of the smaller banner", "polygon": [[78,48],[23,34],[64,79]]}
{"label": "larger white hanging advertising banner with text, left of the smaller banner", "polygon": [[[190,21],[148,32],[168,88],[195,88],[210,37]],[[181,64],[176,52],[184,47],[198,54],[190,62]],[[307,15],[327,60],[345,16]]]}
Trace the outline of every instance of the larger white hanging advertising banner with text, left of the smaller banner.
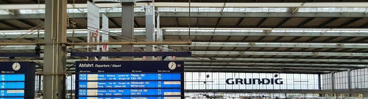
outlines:
{"label": "larger white hanging advertising banner with text, left of the smaller banner", "polygon": [[[99,28],[100,28],[100,8],[98,8],[95,4],[87,1],[87,9],[88,9],[88,38],[87,42],[99,42]],[[89,45],[88,52],[99,52],[100,47],[96,45]],[[96,57],[88,57],[88,60],[97,60]]]}

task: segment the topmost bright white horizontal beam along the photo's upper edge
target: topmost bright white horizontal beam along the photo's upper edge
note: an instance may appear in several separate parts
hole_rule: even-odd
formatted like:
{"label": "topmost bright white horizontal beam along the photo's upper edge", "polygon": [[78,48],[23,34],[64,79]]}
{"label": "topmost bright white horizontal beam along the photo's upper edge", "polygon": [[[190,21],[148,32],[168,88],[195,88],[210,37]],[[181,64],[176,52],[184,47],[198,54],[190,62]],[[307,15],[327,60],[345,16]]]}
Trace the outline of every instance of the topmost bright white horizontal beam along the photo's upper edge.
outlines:
{"label": "topmost bright white horizontal beam along the photo's upper edge", "polygon": [[[97,3],[100,8],[112,8],[119,3]],[[146,3],[137,3],[144,5]],[[326,3],[191,3],[191,7],[368,7],[368,3],[342,3],[342,2],[326,2]],[[68,8],[87,8],[87,4],[67,5]],[[138,7],[138,6],[136,6]],[[189,7],[188,3],[183,2],[156,2],[155,7]],[[45,9],[45,4],[40,4],[41,9]],[[6,9],[38,9],[38,4],[12,4],[1,5],[0,10]]]}

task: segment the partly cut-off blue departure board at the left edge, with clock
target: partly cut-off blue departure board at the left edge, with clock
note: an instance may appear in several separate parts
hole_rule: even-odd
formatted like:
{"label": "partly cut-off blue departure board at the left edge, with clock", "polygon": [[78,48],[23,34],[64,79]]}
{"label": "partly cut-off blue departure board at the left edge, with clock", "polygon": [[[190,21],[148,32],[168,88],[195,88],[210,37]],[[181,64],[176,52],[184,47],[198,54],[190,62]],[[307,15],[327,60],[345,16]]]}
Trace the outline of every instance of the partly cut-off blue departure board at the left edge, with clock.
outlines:
{"label": "partly cut-off blue departure board at the left edge, with clock", "polygon": [[35,99],[33,62],[0,62],[0,99]]}

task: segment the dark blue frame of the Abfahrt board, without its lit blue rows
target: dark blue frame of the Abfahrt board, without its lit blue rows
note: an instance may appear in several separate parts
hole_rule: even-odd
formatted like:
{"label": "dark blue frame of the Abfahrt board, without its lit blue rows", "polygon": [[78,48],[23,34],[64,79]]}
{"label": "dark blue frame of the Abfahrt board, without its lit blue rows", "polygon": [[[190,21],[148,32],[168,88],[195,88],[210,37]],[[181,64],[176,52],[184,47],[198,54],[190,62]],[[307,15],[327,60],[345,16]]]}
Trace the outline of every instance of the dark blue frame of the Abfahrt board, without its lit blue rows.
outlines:
{"label": "dark blue frame of the Abfahrt board, without its lit blue rows", "polygon": [[[169,63],[176,63],[177,67],[174,70],[169,68]],[[99,66],[99,67],[96,67]],[[121,66],[120,66],[121,65]],[[114,67],[115,66],[115,67]],[[75,88],[76,88],[76,99],[85,99],[85,96],[79,96],[79,82],[85,80],[79,80],[79,74],[180,74],[180,96],[184,99],[184,61],[76,61],[75,63]],[[99,80],[88,80],[88,81],[99,81]],[[109,80],[105,80],[109,81]],[[113,80],[112,80],[113,81]],[[134,81],[134,80],[133,80]],[[146,81],[158,81],[158,80],[146,80]],[[164,81],[164,80],[160,80]],[[90,89],[90,88],[88,88]],[[100,89],[100,88],[92,88]],[[103,89],[103,88],[102,88]],[[106,89],[106,88],[105,88]],[[121,89],[121,88],[115,88]],[[123,88],[124,89],[124,88]],[[125,88],[128,89],[128,88]],[[129,89],[142,89],[142,88],[129,88]],[[150,88],[147,88],[150,89]],[[157,89],[157,88],[156,88]],[[167,89],[167,88],[163,88]],[[175,95],[174,95],[175,96]],[[81,98],[79,98],[81,97]],[[114,96],[92,96],[92,97],[114,97]],[[126,97],[126,96],[116,96],[116,97]],[[137,96],[132,96],[137,97]],[[139,97],[139,96],[138,96]],[[157,98],[158,96],[142,96],[142,97],[152,97]],[[172,96],[159,96],[159,97],[172,97]],[[104,98],[102,98],[104,99]],[[107,98],[106,98],[107,99]],[[120,98],[117,98],[120,99]]]}

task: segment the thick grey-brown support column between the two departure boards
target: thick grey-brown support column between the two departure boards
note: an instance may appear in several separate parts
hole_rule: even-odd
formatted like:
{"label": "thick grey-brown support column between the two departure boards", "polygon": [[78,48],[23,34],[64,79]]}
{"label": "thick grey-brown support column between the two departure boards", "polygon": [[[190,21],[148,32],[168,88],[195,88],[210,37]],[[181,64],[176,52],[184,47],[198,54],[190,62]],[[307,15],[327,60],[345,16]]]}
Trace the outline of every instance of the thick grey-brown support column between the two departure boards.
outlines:
{"label": "thick grey-brown support column between the two departure boards", "polygon": [[67,0],[46,0],[43,99],[64,99]]}

